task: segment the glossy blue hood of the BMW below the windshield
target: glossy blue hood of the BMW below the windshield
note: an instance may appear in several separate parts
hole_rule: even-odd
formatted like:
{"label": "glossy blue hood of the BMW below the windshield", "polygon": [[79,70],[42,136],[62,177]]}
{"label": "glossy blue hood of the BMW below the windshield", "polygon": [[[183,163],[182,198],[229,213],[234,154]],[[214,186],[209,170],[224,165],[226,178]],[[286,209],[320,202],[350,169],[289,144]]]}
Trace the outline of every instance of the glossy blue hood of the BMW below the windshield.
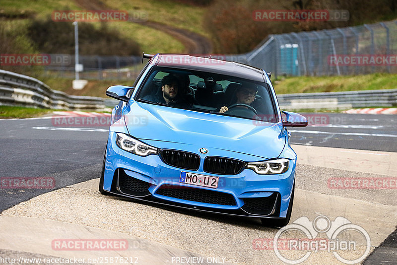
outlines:
{"label": "glossy blue hood of the BMW below the windshield", "polygon": [[158,140],[276,158],[285,145],[280,124],[133,102],[125,111],[129,133]]}

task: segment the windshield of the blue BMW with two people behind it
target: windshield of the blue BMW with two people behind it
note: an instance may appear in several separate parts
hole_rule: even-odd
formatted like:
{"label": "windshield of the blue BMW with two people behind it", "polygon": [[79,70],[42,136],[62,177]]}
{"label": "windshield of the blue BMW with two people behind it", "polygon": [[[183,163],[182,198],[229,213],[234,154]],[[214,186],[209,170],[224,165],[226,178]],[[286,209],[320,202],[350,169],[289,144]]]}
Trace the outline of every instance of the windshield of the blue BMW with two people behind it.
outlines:
{"label": "windshield of the blue BMW with two people behind it", "polygon": [[135,99],[217,115],[277,122],[266,83],[223,74],[155,66]]}

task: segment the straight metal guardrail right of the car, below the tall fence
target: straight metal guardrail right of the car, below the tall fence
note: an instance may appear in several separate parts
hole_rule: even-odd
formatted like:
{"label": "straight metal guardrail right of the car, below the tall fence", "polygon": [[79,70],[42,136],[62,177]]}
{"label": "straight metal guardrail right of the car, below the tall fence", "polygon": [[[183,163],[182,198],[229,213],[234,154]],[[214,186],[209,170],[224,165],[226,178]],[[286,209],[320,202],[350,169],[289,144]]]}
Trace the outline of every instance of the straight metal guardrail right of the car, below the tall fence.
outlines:
{"label": "straight metal guardrail right of the car, below the tall fence", "polygon": [[397,89],[278,94],[277,99],[285,110],[396,107]]}

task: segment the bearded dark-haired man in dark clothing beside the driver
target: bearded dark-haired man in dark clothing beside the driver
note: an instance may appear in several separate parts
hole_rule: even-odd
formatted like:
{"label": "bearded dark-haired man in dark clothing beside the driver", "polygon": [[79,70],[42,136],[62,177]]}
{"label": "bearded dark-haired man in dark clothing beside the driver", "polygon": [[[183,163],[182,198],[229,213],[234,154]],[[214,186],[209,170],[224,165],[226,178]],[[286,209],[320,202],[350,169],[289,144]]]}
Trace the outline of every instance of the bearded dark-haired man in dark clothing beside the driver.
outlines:
{"label": "bearded dark-haired man in dark clothing beside the driver", "polygon": [[[182,90],[182,89],[181,89]],[[164,103],[178,108],[188,108],[191,104],[180,97],[180,83],[178,78],[172,74],[168,74],[161,80],[161,92],[155,95],[145,96],[143,99],[155,103]]]}

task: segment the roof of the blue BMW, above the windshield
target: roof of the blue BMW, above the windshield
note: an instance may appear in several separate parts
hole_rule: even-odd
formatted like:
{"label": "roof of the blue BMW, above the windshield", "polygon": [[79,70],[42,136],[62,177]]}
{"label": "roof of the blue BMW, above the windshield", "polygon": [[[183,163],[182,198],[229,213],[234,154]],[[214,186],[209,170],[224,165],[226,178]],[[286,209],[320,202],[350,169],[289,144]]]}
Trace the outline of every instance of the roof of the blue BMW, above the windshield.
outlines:
{"label": "roof of the blue BMW, above the windshield", "polygon": [[153,63],[156,66],[213,72],[260,82],[265,80],[262,69],[209,57],[187,54],[156,54],[153,57]]}

